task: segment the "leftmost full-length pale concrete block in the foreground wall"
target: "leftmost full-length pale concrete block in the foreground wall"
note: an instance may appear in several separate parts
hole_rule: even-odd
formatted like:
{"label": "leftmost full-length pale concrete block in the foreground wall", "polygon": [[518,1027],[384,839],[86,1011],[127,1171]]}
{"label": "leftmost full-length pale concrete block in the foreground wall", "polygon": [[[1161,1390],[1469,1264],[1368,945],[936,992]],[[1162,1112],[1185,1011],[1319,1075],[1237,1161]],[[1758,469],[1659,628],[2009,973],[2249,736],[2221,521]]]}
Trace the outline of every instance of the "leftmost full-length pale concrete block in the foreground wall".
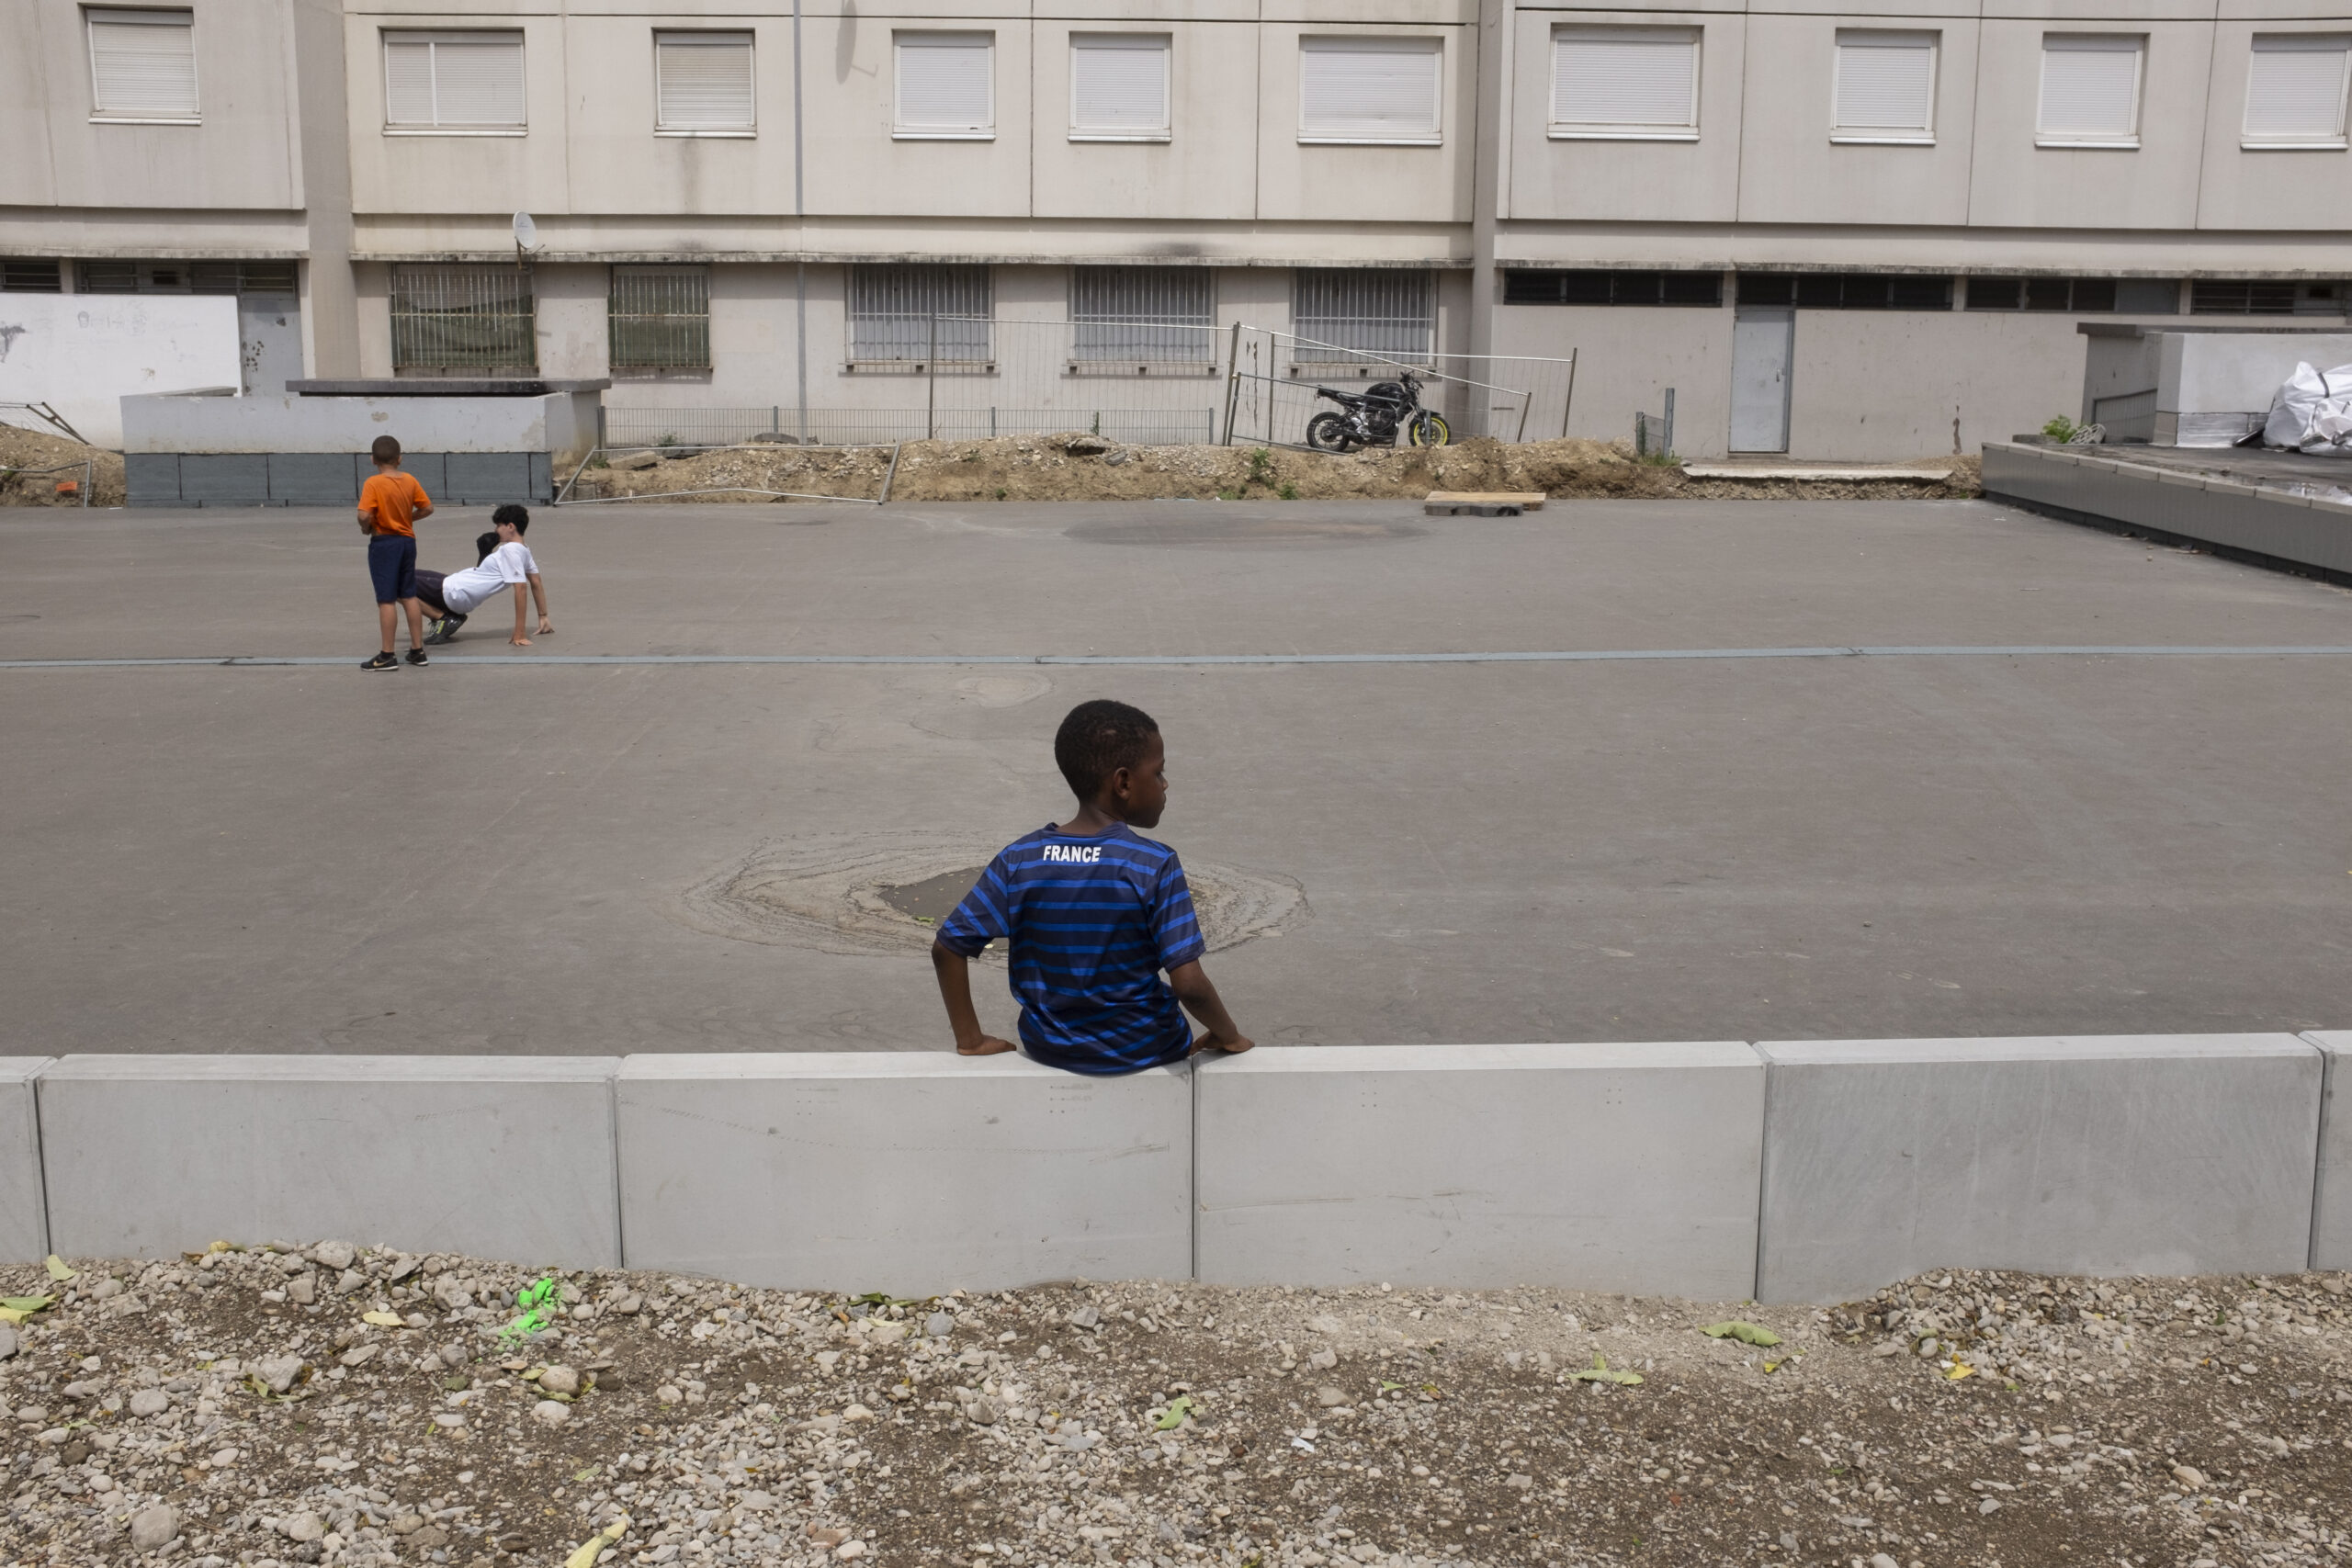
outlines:
{"label": "leftmost full-length pale concrete block in the foreground wall", "polygon": [[595,1056],[68,1056],[40,1079],[49,1241],[228,1241],[621,1260]]}

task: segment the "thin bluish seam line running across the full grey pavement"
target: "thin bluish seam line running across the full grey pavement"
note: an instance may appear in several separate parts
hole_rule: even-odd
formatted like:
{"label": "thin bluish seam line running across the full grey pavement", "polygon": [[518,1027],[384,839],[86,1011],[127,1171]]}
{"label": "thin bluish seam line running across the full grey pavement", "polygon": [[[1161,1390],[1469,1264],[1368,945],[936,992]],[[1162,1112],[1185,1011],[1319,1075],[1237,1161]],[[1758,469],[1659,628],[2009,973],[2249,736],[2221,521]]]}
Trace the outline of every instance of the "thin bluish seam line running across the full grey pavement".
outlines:
{"label": "thin bluish seam line running across the full grey pavement", "polygon": [[[1505,665],[1639,663],[1661,658],[2345,658],[2352,644],[1983,644],[1983,646],[1820,646],[1820,649],[1552,649],[1482,654],[539,654],[532,658],[440,658],[430,668],[527,670],[543,665]],[[350,658],[0,658],[0,670],[282,670],[334,668]]]}

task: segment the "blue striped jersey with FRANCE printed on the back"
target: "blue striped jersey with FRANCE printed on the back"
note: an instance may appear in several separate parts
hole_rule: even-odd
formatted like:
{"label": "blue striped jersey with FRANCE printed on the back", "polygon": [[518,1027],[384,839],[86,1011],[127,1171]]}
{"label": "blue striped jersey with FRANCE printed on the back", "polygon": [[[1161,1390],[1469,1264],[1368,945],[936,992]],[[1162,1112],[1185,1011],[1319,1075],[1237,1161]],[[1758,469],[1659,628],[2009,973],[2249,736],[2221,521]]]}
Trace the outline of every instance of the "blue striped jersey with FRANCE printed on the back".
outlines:
{"label": "blue striped jersey with FRANCE printed on the back", "polygon": [[1011,945],[1021,1046],[1068,1072],[1141,1072],[1176,1063],[1192,1030],[1162,969],[1207,943],[1183,863],[1167,844],[1112,823],[1094,837],[1051,823],[1004,846],[938,924],[938,945],[976,959]]}

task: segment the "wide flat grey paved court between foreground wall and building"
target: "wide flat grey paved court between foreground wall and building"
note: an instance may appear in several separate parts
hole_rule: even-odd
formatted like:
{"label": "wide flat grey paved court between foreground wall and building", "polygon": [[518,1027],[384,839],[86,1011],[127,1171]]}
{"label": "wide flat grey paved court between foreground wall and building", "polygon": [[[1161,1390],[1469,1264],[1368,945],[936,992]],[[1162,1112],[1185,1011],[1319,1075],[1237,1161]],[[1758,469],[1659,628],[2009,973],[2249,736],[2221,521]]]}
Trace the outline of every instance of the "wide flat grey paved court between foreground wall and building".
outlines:
{"label": "wide flat grey paved court between foreground wall and building", "polygon": [[[978,865],[1068,809],[1091,696],[1164,724],[1190,865],[1305,896],[1207,964],[1265,1046],[2352,1025],[2352,663],[2230,651],[2352,646],[2307,578],[1966,501],[652,505],[532,548],[555,637],[492,609],[362,677],[348,512],[0,512],[0,661],[327,661],[0,668],[0,1053],[946,1051],[920,938],[680,900],[764,851]],[[2084,644],[2140,651],[2046,651]],[[729,663],[769,656],[880,663]]]}

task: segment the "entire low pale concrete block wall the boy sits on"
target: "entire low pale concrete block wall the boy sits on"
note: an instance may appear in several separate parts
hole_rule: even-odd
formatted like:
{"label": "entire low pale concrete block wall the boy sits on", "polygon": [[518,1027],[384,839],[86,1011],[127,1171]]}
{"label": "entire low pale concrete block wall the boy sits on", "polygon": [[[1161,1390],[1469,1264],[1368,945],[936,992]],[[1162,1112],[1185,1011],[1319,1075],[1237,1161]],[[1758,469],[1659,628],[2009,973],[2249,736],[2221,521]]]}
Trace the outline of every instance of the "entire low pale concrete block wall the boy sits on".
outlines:
{"label": "entire low pale concrete block wall the boy sits on", "polygon": [[9,1060],[0,1258],[341,1237],[898,1295],[1703,1300],[1931,1267],[2352,1267],[2352,1117],[2321,1124],[2345,1046],[1265,1048],[1131,1079],[950,1053]]}

